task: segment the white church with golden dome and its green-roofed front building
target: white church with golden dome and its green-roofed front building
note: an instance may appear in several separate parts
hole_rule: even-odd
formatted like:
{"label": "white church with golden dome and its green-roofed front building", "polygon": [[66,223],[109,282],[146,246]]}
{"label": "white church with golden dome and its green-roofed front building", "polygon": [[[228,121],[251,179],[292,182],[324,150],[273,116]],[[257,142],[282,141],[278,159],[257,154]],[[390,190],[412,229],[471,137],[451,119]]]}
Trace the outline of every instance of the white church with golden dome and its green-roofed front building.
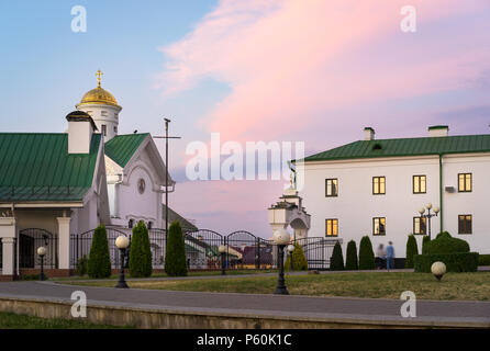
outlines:
{"label": "white church with golden dome and its green-roofed front building", "polygon": [[0,133],[0,279],[38,267],[38,246],[69,274],[70,235],[99,224],[165,227],[166,178],[169,192],[175,181],[149,134],[118,134],[122,107],[100,75],[65,133]]}

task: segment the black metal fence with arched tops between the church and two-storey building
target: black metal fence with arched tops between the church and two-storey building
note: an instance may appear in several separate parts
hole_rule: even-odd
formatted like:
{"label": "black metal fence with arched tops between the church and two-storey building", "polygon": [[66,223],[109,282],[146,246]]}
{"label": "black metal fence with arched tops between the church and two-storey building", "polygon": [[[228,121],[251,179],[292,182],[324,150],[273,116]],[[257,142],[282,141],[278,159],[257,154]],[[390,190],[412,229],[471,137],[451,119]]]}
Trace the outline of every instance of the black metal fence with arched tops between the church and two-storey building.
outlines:
{"label": "black metal fence with arched tops between the church and two-storey building", "polygon": [[[89,257],[90,246],[94,230],[71,235],[70,264],[76,268],[80,258]],[[120,235],[130,238],[131,228],[107,228],[111,264],[120,267],[120,253],[115,247],[115,239]],[[165,267],[166,233],[165,229],[148,230],[154,269]],[[238,230],[229,235],[221,235],[210,229],[199,229],[183,234],[186,260],[190,270],[221,270],[222,253],[220,246],[224,246],[223,254],[226,270],[237,269],[271,269],[277,263],[277,247],[272,242],[253,235],[249,231]],[[303,238],[298,242],[307,257],[309,269],[327,270],[330,258],[337,239]],[[287,254],[285,254],[285,258]]]}

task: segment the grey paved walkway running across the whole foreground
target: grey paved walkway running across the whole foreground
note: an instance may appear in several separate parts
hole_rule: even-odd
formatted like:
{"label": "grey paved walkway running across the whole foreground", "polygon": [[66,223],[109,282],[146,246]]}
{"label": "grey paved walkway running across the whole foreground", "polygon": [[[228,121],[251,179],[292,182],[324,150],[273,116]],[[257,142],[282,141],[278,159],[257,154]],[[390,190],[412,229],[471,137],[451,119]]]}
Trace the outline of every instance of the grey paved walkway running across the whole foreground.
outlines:
{"label": "grey paved walkway running across the whole foreground", "polygon": [[299,316],[339,320],[394,320],[430,324],[478,324],[490,328],[490,302],[417,301],[416,318],[402,318],[402,301],[371,298],[279,296],[230,293],[116,290],[62,285],[53,282],[0,283],[0,297],[70,301],[74,291],[88,304],[235,315]]}

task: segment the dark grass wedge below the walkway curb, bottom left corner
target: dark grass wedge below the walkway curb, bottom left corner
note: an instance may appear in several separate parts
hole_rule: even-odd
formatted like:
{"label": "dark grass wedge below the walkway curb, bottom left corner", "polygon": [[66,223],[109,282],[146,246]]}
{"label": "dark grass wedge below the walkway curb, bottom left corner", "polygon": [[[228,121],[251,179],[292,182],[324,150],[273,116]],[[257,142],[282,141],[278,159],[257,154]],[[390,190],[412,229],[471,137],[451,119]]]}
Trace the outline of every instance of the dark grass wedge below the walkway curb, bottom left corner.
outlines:
{"label": "dark grass wedge below the walkway curb, bottom left corner", "polygon": [[132,328],[90,324],[76,319],[40,318],[0,312],[0,329],[114,329]]}

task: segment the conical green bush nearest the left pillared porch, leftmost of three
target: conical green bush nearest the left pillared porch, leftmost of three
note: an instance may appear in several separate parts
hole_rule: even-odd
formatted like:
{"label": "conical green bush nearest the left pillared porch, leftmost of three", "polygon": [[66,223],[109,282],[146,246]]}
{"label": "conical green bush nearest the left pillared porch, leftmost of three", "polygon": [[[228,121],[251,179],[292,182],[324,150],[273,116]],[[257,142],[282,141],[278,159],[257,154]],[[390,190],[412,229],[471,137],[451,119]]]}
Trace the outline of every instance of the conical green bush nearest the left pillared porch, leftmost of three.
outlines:
{"label": "conical green bush nearest the left pillared porch, leftmost of three", "polygon": [[98,226],[93,233],[87,272],[90,278],[111,276],[111,256],[109,254],[108,234],[103,225]]}

